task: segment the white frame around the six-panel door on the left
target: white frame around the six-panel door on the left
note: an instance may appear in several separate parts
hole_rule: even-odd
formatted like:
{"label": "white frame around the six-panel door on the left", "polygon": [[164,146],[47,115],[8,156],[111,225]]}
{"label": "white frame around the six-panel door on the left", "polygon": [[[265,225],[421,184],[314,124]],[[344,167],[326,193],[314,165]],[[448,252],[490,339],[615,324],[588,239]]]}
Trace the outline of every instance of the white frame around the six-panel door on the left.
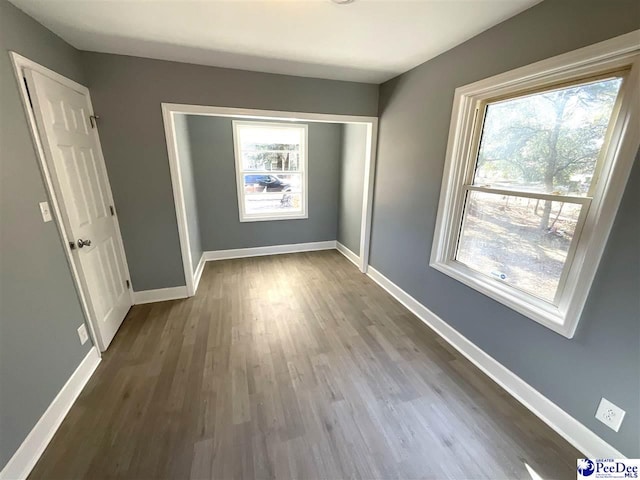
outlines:
{"label": "white frame around the six-panel door on the left", "polygon": [[[51,177],[51,171],[49,165],[47,163],[47,157],[44,153],[44,149],[42,147],[42,141],[40,140],[40,134],[38,132],[38,127],[36,125],[36,119],[34,116],[34,112],[31,108],[31,102],[29,100],[29,92],[27,90],[27,86],[24,80],[23,70],[28,68],[29,70],[33,70],[38,72],[46,77],[49,77],[52,80],[55,80],[58,83],[61,83],[65,87],[68,87],[72,90],[75,90],[82,95],[86,95],[89,101],[89,107],[91,109],[91,114],[94,114],[93,105],[91,104],[91,96],[89,94],[89,89],[84,85],[81,85],[73,80],[60,75],[53,70],[50,70],[46,67],[43,67],[39,63],[36,63],[32,60],[29,60],[26,57],[16,53],[9,52],[9,56],[11,57],[11,63],[13,64],[13,71],[16,77],[16,81],[18,82],[18,89],[20,91],[20,99],[22,100],[22,106],[24,107],[25,115],[27,116],[27,124],[29,125],[29,131],[31,133],[31,138],[33,140],[33,144],[36,149],[36,156],[38,157],[38,163],[40,166],[40,170],[42,172],[42,177],[44,179],[45,188],[47,194],[49,196],[49,201],[51,203],[51,208],[53,209],[53,217],[58,228],[58,233],[60,235],[60,240],[62,241],[62,249],[64,250],[64,254],[67,257],[67,262],[69,263],[69,268],[71,270],[71,277],[73,278],[73,283],[76,287],[76,291],[78,292],[78,297],[80,298],[80,305],[82,307],[82,312],[84,313],[86,323],[89,327],[89,334],[91,335],[91,341],[93,342],[96,350],[101,355],[101,345],[98,341],[98,335],[96,334],[97,323],[96,319],[91,315],[91,310],[89,309],[89,304],[87,301],[87,295],[82,288],[82,283],[80,282],[80,276],[78,273],[78,267],[76,266],[73,255],[71,255],[71,250],[69,249],[69,235],[64,227],[64,223],[62,221],[63,216],[62,213],[66,214],[66,208],[64,202],[59,201],[56,190],[53,186],[53,180]],[[102,155],[102,145],[100,145],[100,136],[97,133],[97,129],[95,130],[96,141],[98,143],[98,148],[100,149],[100,155]],[[109,187],[109,200],[113,202],[111,185],[109,183],[109,177],[106,178],[107,186]],[[129,274],[129,264],[127,263],[127,257],[124,251],[124,245],[122,243],[122,233],[120,232],[120,223],[118,222],[118,216],[114,217],[116,234],[118,237],[119,247],[122,252],[122,257],[124,260],[124,268],[127,274],[127,278],[131,281],[131,275]],[[133,305],[133,286],[129,288],[129,297],[131,299],[131,304]]]}

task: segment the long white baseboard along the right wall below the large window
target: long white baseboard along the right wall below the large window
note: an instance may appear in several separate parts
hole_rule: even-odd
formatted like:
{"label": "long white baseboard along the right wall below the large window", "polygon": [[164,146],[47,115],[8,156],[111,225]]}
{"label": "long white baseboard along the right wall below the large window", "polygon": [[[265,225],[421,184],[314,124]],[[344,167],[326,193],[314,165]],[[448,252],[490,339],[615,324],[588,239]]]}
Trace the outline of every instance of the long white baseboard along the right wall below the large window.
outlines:
{"label": "long white baseboard along the right wall below the large window", "polygon": [[369,266],[367,275],[533,414],[580,450],[586,458],[625,458],[622,453],[489,356],[375,268]]}

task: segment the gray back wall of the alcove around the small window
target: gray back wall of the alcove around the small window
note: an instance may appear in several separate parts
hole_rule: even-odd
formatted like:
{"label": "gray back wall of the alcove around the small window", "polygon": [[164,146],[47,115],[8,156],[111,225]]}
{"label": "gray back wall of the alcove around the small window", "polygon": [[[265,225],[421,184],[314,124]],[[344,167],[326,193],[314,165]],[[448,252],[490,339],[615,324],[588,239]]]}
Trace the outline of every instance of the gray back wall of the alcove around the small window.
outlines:
{"label": "gray back wall of the alcove around the small window", "polygon": [[307,124],[309,218],[240,222],[232,119],[191,115],[188,121],[205,251],[336,239],[341,125]]}

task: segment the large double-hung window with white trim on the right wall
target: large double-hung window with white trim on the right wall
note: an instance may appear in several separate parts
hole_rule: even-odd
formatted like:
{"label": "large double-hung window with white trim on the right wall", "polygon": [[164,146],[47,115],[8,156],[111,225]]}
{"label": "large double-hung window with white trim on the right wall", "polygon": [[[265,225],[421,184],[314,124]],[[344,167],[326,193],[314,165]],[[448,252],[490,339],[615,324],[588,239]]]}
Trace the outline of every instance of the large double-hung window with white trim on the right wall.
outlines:
{"label": "large double-hung window with white trim on the right wall", "polygon": [[638,55],[563,57],[456,91],[431,266],[571,337],[638,149]]}

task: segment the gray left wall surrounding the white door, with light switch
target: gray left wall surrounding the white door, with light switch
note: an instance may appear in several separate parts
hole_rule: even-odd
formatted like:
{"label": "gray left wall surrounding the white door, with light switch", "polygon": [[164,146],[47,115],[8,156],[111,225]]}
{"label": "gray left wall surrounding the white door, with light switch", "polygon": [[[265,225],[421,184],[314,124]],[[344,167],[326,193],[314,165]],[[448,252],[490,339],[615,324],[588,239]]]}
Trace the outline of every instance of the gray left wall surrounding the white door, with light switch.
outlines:
{"label": "gray left wall surrounding the white door, with light switch", "polygon": [[8,50],[84,82],[79,52],[0,0],[0,470],[91,348]]}

